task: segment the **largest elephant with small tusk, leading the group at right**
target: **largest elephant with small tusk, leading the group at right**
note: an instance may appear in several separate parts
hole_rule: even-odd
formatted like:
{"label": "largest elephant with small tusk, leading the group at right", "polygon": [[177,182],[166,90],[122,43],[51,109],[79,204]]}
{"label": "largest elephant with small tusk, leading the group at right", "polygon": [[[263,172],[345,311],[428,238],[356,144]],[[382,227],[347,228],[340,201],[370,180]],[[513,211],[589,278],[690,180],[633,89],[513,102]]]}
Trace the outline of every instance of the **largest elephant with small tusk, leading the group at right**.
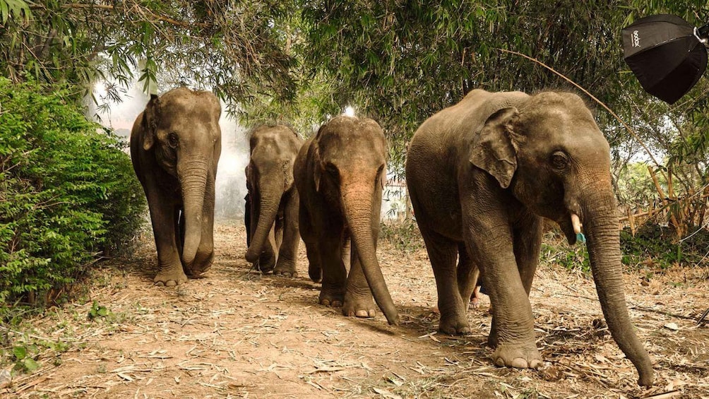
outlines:
{"label": "largest elephant with small tusk, leading the group at right", "polygon": [[479,270],[492,305],[494,363],[542,366],[528,298],[542,220],[555,221],[571,245],[583,225],[608,330],[638,383],[652,386],[652,362],[625,304],[610,147],[579,96],[473,90],[416,130],[406,182],[441,332],[470,332],[466,310]]}

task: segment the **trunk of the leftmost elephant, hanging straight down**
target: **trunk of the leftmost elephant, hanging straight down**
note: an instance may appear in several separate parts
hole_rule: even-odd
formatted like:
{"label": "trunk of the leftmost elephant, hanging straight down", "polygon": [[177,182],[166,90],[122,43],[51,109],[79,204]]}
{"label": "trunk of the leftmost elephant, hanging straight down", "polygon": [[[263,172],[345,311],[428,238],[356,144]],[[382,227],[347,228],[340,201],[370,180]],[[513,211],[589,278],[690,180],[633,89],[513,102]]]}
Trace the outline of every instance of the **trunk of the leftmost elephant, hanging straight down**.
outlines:
{"label": "trunk of the leftmost elephant, hanging straight down", "polygon": [[202,240],[202,216],[208,164],[206,159],[189,159],[179,165],[177,173],[182,186],[185,223],[182,262],[189,269]]}

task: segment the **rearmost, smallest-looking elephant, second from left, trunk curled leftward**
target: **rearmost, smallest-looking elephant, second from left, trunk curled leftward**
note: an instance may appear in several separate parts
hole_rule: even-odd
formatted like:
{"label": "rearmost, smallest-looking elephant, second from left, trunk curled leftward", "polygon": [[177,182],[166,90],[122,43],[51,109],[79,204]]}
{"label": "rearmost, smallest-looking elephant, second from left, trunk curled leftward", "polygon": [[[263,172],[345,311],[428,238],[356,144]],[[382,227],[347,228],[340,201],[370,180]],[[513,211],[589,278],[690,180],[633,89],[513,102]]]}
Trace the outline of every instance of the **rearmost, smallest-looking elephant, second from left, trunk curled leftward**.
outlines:
{"label": "rearmost, smallest-looking elephant, second from left, trunk curled leftward", "polygon": [[298,276],[298,191],[293,164],[303,140],[286,125],[261,125],[249,139],[246,260],[262,273]]}

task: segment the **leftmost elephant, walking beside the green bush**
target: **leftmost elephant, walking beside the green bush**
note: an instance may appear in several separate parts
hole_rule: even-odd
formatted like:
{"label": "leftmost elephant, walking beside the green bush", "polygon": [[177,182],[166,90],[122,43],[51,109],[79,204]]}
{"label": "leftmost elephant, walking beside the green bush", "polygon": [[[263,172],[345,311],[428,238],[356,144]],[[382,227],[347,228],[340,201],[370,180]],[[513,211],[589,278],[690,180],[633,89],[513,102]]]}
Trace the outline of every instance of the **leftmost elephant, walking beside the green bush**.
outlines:
{"label": "leftmost elephant, walking beside the green bush", "polygon": [[150,209],[157,285],[177,286],[213,262],[220,114],[210,91],[178,87],[152,94],[133,123],[130,157]]}

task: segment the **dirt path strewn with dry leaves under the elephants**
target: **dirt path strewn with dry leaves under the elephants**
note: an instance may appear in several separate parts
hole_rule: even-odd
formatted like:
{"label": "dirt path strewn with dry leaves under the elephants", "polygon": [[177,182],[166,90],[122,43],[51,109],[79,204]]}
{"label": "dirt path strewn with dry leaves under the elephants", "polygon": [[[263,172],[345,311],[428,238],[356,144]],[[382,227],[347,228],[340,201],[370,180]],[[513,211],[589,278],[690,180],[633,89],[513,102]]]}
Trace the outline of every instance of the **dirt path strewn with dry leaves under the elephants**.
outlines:
{"label": "dirt path strewn with dry leaves under the elephants", "polygon": [[[65,342],[41,367],[0,385],[2,398],[709,398],[709,266],[642,283],[626,276],[631,315],[656,364],[657,387],[637,374],[605,330],[592,281],[540,266],[532,288],[542,371],[499,369],[484,346],[484,297],[473,333],[436,333],[436,294],[425,252],[378,251],[401,325],[343,317],[317,305],[301,245],[295,280],[261,276],[243,260],[243,227],[221,225],[206,278],[152,286],[145,240],[130,260],[94,271],[86,299],[30,320],[31,337]],[[90,321],[96,300],[110,314]],[[671,313],[671,315],[667,314]],[[692,320],[692,318],[694,320]],[[21,339],[21,337],[15,337]]]}

